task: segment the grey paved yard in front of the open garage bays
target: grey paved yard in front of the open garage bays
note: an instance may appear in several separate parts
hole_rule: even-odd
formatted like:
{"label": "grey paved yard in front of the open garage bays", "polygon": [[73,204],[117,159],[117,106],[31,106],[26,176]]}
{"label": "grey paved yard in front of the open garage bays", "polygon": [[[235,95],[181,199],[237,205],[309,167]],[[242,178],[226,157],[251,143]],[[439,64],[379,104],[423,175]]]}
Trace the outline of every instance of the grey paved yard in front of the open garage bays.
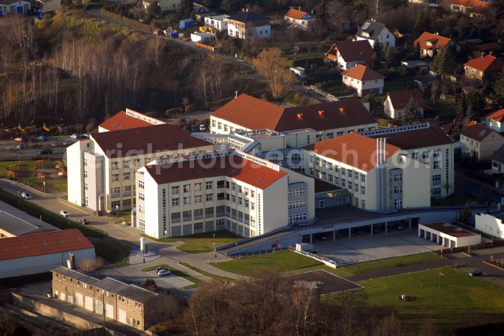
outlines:
{"label": "grey paved yard in front of the open garage bays", "polygon": [[[328,239],[330,240],[330,239]],[[374,259],[414,255],[440,249],[428,240],[418,237],[416,230],[381,234],[374,236],[359,236],[336,242],[314,241],[317,254],[336,262],[368,261]]]}

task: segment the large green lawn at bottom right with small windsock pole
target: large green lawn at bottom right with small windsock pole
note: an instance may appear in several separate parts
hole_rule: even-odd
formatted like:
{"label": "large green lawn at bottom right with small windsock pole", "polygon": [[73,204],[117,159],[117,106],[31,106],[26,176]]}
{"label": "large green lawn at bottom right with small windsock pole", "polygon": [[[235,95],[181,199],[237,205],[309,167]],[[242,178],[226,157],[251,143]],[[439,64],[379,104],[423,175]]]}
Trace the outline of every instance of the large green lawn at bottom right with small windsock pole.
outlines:
{"label": "large green lawn at bottom right with small windsock pole", "polygon": [[[441,334],[448,334],[455,327],[501,320],[504,314],[503,290],[449,267],[360,284],[368,306],[393,308],[410,330],[430,320],[439,325]],[[402,294],[415,300],[402,301],[398,298]]]}

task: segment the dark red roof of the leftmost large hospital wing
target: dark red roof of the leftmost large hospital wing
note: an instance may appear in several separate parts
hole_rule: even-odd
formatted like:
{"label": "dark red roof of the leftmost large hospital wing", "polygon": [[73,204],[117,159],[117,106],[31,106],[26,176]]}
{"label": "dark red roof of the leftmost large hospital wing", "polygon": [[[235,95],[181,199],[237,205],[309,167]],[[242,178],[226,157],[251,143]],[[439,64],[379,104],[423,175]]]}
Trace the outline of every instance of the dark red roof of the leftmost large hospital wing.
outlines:
{"label": "dark red roof of the leftmost large hospital wing", "polygon": [[91,133],[90,137],[108,157],[135,155],[139,151],[146,154],[212,145],[210,142],[191,136],[191,132],[170,124]]}

